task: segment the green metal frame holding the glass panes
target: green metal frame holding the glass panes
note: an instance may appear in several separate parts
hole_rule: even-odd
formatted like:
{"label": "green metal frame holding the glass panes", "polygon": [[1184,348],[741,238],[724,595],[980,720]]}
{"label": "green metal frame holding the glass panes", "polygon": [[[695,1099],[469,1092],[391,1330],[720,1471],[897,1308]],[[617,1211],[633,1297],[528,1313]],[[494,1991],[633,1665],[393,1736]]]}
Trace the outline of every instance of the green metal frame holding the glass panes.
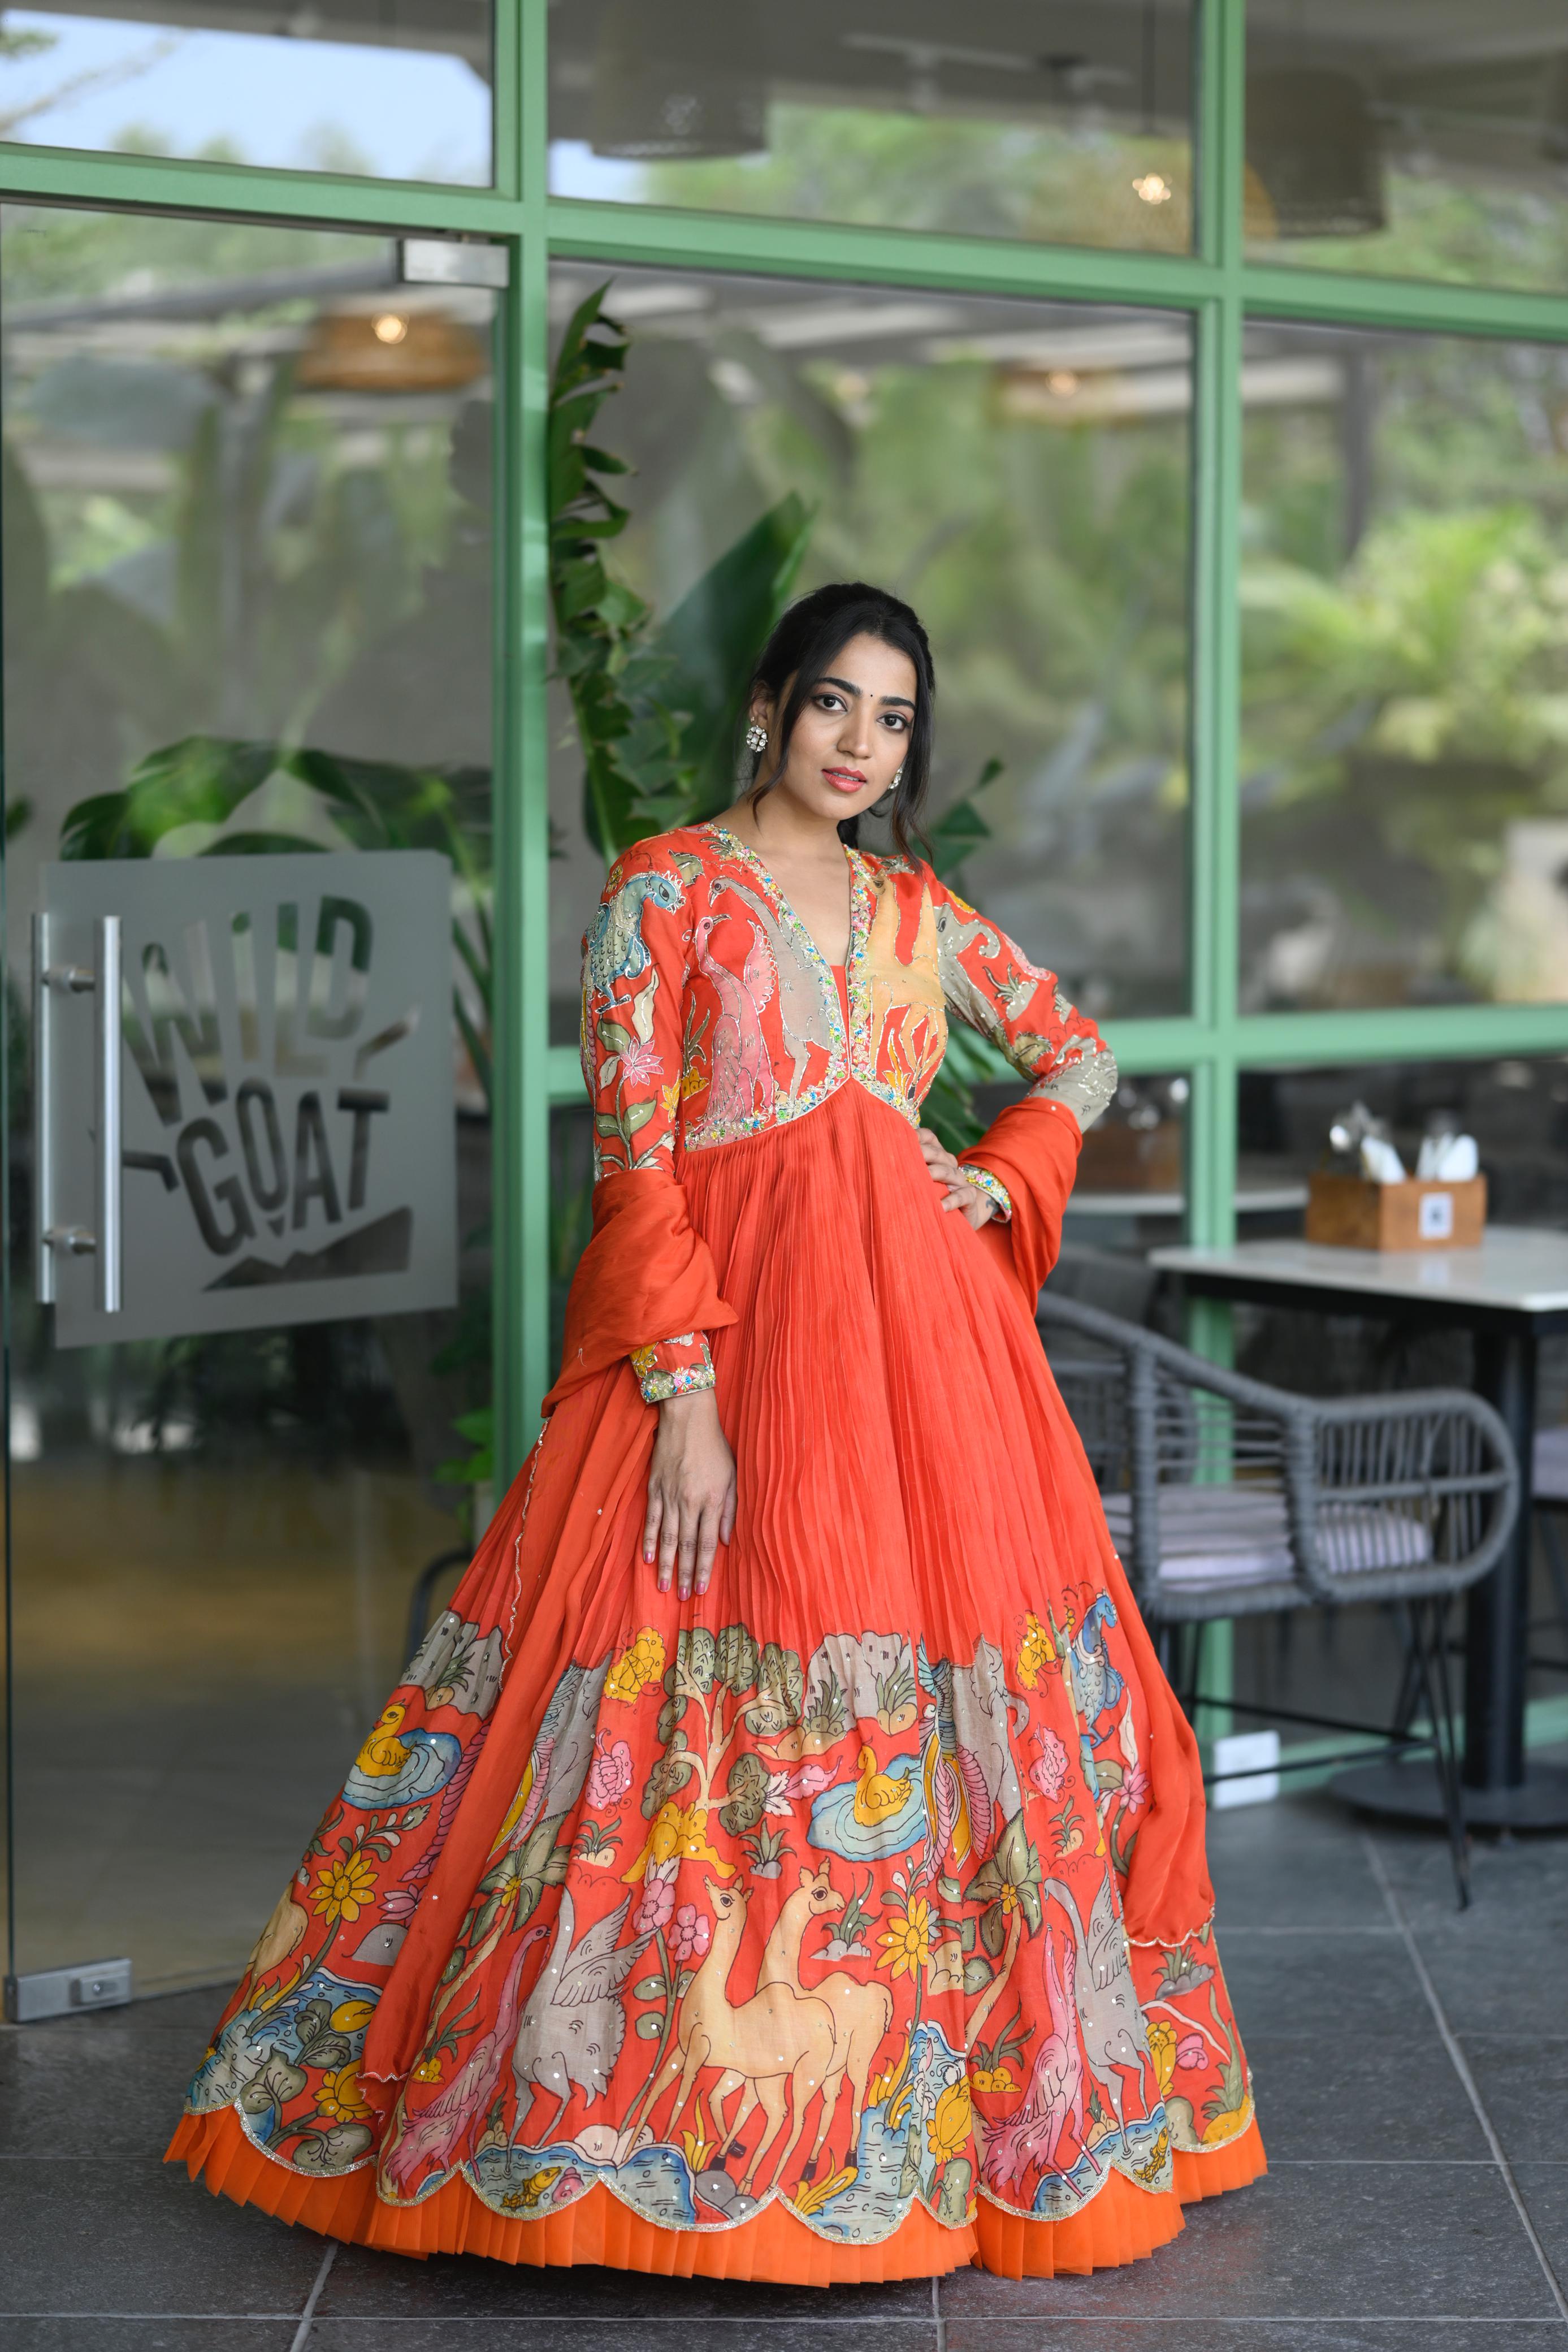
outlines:
{"label": "green metal frame holding the glass panes", "polygon": [[[1234,1228],[1237,1075],[1361,1058],[1568,1051],[1568,1004],[1467,1004],[1359,1014],[1239,1014],[1239,513],[1241,327],[1248,313],[1568,343],[1568,292],[1413,285],[1246,259],[1244,0],[1204,0],[1199,28],[1197,249],[1077,247],[562,202],[545,179],[548,0],[496,0],[496,183],[407,186],[146,155],[0,148],[0,198],[244,214],[320,226],[503,240],[512,287],[498,402],[496,767],[496,1409],[498,1470],[524,1458],[548,1350],[550,1103],[576,1101],[576,1054],[548,1042],[545,741],[545,273],[550,256],[954,287],[1185,310],[1197,386],[1192,546],[1190,1011],[1119,1021],[1128,1070],[1187,1070],[1190,1230]],[[1222,1348],[1222,1331],[1211,1345]]]}

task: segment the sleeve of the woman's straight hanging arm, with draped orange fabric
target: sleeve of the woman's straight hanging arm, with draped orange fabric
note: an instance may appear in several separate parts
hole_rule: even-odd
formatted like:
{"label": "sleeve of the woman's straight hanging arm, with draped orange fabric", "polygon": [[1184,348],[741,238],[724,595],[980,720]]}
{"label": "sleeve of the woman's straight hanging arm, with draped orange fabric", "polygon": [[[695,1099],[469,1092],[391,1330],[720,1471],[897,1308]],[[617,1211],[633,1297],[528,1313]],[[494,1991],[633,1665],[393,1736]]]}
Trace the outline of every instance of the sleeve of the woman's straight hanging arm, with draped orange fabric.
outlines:
{"label": "sleeve of the woman's straight hanging arm, with draped orange fabric", "polygon": [[630,849],[583,941],[583,1080],[592,1101],[592,1240],[567,1303],[548,1404],[618,1357],[649,1402],[712,1385],[708,1331],[733,1322],[675,1176],[693,861]]}

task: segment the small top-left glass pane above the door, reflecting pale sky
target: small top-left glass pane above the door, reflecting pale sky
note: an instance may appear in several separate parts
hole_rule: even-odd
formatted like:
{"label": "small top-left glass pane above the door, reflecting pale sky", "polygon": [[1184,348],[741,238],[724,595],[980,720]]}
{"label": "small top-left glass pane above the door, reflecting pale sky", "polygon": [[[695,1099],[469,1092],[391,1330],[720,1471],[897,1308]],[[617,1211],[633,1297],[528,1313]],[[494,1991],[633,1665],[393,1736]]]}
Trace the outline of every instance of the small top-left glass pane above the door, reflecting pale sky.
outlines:
{"label": "small top-left glass pane above the door, reflecting pale sky", "polygon": [[491,0],[7,9],[0,139],[491,181]]}

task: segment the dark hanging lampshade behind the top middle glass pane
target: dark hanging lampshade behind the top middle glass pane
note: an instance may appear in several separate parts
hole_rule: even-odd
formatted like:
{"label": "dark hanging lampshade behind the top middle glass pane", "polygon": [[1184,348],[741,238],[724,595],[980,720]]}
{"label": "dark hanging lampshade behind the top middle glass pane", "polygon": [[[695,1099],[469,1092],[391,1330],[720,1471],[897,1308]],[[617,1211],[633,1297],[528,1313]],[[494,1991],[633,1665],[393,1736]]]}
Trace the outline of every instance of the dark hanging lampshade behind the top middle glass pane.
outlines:
{"label": "dark hanging lampshade behind the top middle glass pane", "polygon": [[592,78],[595,155],[764,155],[766,96],[750,0],[609,0]]}

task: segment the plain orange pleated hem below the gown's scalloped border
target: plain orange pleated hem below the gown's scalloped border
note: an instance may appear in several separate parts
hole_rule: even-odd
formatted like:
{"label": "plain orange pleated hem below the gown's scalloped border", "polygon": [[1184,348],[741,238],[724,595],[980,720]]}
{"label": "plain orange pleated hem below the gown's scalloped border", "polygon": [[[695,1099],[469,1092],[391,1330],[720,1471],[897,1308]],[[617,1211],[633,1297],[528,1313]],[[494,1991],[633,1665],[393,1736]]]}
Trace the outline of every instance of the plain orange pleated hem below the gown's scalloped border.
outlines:
{"label": "plain orange pleated hem below the gown's scalloped border", "polygon": [[214,2197],[259,2206],[350,2246],[378,2246],[423,2260],[430,2253],[482,2253],[520,2267],[597,2263],[663,2279],[771,2279],[788,2286],[851,2286],[882,2279],[929,2279],[973,2263],[1004,2279],[1053,2279],[1140,2263],[1182,2227],[1182,2204],[1246,2187],[1265,2171],[1253,2119],[1225,2147],[1173,2154],[1173,2183],[1150,2192],[1124,2173],[1067,2220],[1030,2220],[980,2199],[976,2220],[947,2230],[912,2206],[891,2237],[844,2246],[816,2237],[788,2206],[771,2204],[731,2230],[663,2230],[642,2220],[599,2183],[564,2213],[508,2220],[480,2204],[465,2180],[447,2180],[428,2204],[388,2206],[369,2169],[336,2180],[284,2171],[254,2147],[233,2107],[186,2114],[169,2140],[167,2164],[207,2176]]}

